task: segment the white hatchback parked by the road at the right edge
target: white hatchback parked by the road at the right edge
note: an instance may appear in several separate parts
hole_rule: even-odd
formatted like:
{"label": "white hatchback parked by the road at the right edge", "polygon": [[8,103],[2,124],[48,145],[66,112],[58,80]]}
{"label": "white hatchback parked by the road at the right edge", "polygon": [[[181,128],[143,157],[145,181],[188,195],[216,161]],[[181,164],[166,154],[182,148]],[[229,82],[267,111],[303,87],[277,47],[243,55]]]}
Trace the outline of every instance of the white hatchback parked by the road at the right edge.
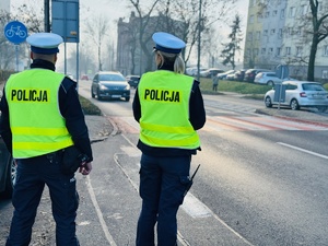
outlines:
{"label": "white hatchback parked by the road at the right edge", "polygon": [[[285,94],[284,99],[280,99],[280,95],[283,94]],[[328,108],[328,91],[319,82],[288,80],[265,94],[266,107],[279,105],[279,101],[281,106],[291,107],[293,110],[301,107],[315,107],[319,112],[326,112]]]}

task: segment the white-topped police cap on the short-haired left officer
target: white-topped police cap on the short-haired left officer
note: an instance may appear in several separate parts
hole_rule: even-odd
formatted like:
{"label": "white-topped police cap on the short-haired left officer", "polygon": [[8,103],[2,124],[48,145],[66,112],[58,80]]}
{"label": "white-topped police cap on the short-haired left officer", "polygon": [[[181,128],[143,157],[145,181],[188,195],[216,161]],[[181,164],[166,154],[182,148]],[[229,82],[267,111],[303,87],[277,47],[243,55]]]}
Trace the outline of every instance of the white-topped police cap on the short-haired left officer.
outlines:
{"label": "white-topped police cap on the short-haired left officer", "polygon": [[62,37],[55,33],[35,33],[26,38],[31,50],[37,54],[57,54],[58,46],[63,42]]}

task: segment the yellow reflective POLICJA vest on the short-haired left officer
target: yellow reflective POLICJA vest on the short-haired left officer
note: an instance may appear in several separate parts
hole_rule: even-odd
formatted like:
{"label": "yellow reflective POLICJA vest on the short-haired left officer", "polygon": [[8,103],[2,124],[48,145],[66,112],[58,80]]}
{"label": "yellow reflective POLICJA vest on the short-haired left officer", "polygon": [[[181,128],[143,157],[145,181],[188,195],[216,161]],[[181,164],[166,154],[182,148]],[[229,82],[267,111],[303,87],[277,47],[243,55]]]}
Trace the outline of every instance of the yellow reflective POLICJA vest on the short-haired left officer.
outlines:
{"label": "yellow reflective POLICJA vest on the short-haired left officer", "polygon": [[73,144],[59,110],[63,77],[47,69],[31,69],[9,78],[5,96],[13,157],[34,157]]}

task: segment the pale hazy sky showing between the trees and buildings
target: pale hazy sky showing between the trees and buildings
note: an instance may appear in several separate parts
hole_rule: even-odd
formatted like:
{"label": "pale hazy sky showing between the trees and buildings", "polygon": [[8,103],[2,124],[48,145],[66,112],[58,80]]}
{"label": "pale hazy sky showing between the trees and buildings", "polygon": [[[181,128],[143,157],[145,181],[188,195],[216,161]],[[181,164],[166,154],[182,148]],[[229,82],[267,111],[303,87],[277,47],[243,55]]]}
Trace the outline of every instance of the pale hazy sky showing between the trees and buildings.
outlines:
{"label": "pale hazy sky showing between the trees and buildings", "polygon": [[[2,1],[2,0],[1,0]],[[151,2],[152,0],[140,0],[141,2]],[[42,8],[44,5],[44,0],[10,0],[11,2],[11,10],[14,10],[15,7],[22,5],[22,4],[33,4],[36,5],[36,8],[40,8],[39,13],[43,13]],[[42,2],[42,4],[40,4]],[[242,16],[242,31],[245,35],[246,32],[246,20],[247,20],[247,10],[248,10],[248,2],[249,0],[237,0],[236,2],[236,11],[241,14]],[[99,16],[104,15],[108,17],[109,20],[109,36],[110,37],[116,37],[117,36],[117,28],[116,28],[116,23],[119,17],[125,17],[128,20],[131,11],[133,11],[133,8],[129,7],[129,0],[80,0],[80,26],[83,25],[85,20],[90,20],[94,16]],[[236,11],[232,12],[232,16],[235,15]],[[216,25],[218,26],[218,32],[221,34],[226,32],[226,35],[231,31],[229,26],[225,28],[222,27],[222,25]],[[81,28],[81,27],[80,27]],[[82,32],[80,32],[80,47],[82,44],[83,38],[87,38],[83,36]],[[115,43],[116,43],[116,38]],[[75,44],[67,44],[67,50],[75,49]],[[242,44],[242,47],[244,44]],[[241,55],[242,56],[242,55]],[[196,57],[196,56],[195,56]]]}

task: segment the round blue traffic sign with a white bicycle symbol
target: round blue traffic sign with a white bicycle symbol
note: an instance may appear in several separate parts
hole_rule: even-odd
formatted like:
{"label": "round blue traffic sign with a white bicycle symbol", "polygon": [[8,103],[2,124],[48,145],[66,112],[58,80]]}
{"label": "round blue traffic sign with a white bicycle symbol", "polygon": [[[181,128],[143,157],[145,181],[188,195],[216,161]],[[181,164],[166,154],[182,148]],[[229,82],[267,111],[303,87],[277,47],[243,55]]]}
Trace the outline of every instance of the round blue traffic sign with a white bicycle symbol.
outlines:
{"label": "round blue traffic sign with a white bicycle symbol", "polygon": [[4,26],[4,36],[9,42],[17,45],[26,39],[27,28],[22,22],[12,21]]}

